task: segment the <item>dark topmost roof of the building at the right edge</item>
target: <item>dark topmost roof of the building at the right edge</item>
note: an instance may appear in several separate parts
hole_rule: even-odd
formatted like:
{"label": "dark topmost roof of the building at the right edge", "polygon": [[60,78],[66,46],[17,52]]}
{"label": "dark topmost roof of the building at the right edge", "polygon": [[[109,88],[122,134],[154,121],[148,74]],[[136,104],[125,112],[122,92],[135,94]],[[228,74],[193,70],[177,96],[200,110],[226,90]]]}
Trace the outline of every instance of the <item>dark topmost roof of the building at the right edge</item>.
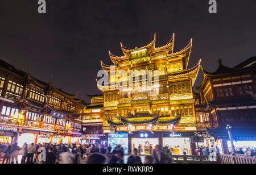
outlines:
{"label": "dark topmost roof of the building at the right edge", "polygon": [[220,76],[220,75],[225,75],[225,74],[241,73],[241,72],[247,72],[250,70],[256,70],[256,65],[252,65],[252,66],[245,67],[245,68],[230,68],[228,66],[223,65],[222,60],[219,59],[218,60],[218,68],[214,72],[212,72],[212,73],[207,72],[206,70],[203,69],[203,67],[201,67],[201,69],[203,70],[204,76],[214,77],[214,76]]}

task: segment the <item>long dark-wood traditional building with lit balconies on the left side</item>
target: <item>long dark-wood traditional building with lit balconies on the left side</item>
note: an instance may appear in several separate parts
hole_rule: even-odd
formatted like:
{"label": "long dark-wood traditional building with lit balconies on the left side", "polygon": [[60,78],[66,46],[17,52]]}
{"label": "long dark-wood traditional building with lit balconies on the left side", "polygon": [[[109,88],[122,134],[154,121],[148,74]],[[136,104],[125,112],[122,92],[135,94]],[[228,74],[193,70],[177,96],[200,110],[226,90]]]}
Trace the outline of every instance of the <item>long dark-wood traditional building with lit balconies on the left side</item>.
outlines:
{"label": "long dark-wood traditional building with lit balconies on the left side", "polygon": [[0,142],[75,143],[81,136],[81,99],[0,60]]}

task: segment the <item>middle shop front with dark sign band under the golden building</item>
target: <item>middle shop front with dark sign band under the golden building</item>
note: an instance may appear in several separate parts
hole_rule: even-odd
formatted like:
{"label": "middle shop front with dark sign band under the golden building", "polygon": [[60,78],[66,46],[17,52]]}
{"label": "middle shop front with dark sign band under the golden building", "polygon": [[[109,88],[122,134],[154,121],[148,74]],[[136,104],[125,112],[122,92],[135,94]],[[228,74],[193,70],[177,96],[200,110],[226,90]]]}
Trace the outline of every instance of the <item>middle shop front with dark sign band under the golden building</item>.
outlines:
{"label": "middle shop front with dark sign band under the golden building", "polygon": [[137,148],[142,155],[150,155],[155,145],[162,145],[162,132],[133,132],[129,134],[129,153]]}

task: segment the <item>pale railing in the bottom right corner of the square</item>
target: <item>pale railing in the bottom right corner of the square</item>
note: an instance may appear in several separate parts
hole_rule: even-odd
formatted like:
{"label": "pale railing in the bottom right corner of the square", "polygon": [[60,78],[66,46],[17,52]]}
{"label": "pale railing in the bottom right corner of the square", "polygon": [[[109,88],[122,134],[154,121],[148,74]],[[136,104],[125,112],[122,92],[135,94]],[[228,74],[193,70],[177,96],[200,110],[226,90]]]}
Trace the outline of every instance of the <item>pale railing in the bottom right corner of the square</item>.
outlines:
{"label": "pale railing in the bottom right corner of the square", "polygon": [[256,157],[247,155],[220,155],[222,164],[256,164]]}

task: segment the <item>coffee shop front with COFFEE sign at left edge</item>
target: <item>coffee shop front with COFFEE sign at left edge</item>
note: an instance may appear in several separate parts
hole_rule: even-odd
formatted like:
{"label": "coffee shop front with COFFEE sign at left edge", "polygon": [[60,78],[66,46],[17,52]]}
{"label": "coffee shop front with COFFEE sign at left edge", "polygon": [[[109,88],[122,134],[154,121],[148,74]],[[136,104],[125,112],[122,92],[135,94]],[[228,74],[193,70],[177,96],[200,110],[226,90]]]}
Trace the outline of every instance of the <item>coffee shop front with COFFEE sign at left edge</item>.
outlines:
{"label": "coffee shop front with COFFEE sign at left edge", "polygon": [[0,127],[0,143],[14,143],[18,128]]}

